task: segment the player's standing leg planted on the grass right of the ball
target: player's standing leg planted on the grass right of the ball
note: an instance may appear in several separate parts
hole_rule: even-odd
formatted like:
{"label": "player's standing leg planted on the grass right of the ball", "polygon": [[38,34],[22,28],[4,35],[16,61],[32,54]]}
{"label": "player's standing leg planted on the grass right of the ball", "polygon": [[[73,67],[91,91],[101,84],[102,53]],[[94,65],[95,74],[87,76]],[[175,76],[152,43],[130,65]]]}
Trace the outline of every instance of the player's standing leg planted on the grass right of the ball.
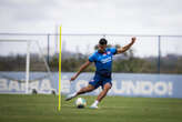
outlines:
{"label": "player's standing leg planted on the grass right of the ball", "polygon": [[107,95],[108,91],[111,89],[111,83],[105,83],[103,87],[102,92],[98,95],[94,103],[90,106],[91,109],[98,109],[98,103],[101,102],[101,100]]}

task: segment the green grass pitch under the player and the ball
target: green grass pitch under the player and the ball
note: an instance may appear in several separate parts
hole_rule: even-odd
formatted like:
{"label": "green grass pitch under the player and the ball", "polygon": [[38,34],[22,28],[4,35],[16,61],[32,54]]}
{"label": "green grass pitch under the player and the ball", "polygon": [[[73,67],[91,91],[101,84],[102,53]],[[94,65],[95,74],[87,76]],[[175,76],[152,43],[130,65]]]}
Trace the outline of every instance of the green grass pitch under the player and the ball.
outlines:
{"label": "green grass pitch under the player and the ball", "polygon": [[77,109],[74,100],[58,112],[54,95],[0,94],[0,122],[182,122],[182,99],[107,96],[98,110]]}

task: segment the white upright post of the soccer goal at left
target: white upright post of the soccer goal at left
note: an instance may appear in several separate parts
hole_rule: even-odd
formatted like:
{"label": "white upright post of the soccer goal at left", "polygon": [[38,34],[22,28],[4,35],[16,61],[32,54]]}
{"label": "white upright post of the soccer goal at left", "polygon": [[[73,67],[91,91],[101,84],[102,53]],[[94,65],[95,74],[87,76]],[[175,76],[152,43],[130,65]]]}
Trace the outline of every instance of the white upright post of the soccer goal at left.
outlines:
{"label": "white upright post of the soccer goal at left", "polygon": [[29,72],[30,72],[30,41],[27,40],[27,63],[26,63],[26,93],[29,93]]}

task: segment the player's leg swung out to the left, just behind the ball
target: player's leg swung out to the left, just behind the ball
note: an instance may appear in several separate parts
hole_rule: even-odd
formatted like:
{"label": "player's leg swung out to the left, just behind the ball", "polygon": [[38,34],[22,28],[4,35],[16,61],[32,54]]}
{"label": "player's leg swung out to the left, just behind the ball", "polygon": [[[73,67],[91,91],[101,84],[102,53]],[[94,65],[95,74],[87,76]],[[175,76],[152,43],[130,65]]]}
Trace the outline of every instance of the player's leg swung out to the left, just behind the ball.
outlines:
{"label": "player's leg swung out to the left, just behind the ball", "polygon": [[69,101],[69,100],[73,99],[73,98],[75,98],[75,96],[78,96],[78,95],[80,95],[80,94],[83,94],[83,93],[87,93],[87,92],[91,92],[91,91],[93,91],[93,90],[94,90],[94,87],[91,85],[91,84],[89,84],[88,87],[82,88],[80,91],[74,92],[74,93],[72,93],[72,94],[69,94],[69,95],[65,98],[65,101]]}

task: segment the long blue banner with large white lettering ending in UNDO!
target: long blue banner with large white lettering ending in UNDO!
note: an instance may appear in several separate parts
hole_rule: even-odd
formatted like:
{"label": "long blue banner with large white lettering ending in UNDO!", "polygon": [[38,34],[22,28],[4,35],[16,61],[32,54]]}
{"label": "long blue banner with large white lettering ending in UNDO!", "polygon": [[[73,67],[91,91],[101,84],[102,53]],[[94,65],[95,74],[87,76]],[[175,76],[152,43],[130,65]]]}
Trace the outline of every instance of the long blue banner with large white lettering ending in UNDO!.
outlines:
{"label": "long blue banner with large white lettering ending in UNDO!", "polygon": [[[24,72],[0,72],[0,93],[26,93]],[[62,72],[61,92],[63,94],[79,91],[87,87],[94,73],[81,73],[70,83],[73,73]],[[38,93],[58,93],[58,72],[51,75],[43,72],[31,72],[29,92],[37,90]],[[182,75],[176,74],[135,74],[113,73],[112,89],[108,95],[146,96],[146,98],[182,98]],[[89,95],[98,95],[99,88]]]}

